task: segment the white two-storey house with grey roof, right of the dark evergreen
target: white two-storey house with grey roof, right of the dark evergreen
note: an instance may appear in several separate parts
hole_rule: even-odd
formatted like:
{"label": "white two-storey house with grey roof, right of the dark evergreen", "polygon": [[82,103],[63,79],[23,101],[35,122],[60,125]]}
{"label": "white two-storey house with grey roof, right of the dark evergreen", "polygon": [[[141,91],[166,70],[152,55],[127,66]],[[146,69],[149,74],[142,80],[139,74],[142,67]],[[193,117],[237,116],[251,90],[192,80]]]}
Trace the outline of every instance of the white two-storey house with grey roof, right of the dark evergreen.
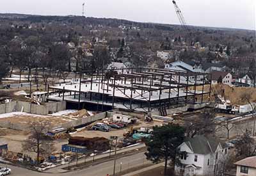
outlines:
{"label": "white two-storey house with grey roof, right of the dark evergreen", "polygon": [[177,175],[209,175],[221,172],[228,156],[228,147],[212,137],[196,136],[189,138],[179,146],[181,152],[186,152],[180,158],[180,164],[175,165]]}

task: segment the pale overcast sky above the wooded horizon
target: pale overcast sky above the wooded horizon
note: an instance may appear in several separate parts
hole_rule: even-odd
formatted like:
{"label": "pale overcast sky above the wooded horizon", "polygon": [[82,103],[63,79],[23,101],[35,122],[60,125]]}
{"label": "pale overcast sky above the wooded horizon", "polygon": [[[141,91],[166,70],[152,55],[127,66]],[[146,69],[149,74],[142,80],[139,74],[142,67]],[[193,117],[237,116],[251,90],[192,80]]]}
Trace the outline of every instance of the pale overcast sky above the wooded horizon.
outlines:
{"label": "pale overcast sky above the wooded horizon", "polygon": [[[0,13],[86,16],[179,24],[170,0],[0,0]],[[255,0],[177,0],[195,26],[255,29]]]}

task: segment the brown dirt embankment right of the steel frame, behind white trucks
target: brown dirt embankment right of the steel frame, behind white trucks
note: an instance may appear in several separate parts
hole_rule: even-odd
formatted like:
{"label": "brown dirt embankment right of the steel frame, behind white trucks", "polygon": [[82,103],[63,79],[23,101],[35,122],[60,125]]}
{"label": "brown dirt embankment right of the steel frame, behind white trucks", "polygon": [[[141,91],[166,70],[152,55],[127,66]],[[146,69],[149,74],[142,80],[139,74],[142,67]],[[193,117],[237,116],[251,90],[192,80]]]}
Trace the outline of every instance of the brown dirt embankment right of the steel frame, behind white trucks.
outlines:
{"label": "brown dirt embankment right of the steel frame, behind white trucks", "polygon": [[248,104],[241,100],[241,95],[244,92],[250,92],[252,94],[251,102],[256,102],[256,90],[254,88],[240,88],[230,87],[224,84],[217,84],[212,86],[212,97],[214,100],[214,94],[223,96],[226,100],[230,100],[233,105]]}

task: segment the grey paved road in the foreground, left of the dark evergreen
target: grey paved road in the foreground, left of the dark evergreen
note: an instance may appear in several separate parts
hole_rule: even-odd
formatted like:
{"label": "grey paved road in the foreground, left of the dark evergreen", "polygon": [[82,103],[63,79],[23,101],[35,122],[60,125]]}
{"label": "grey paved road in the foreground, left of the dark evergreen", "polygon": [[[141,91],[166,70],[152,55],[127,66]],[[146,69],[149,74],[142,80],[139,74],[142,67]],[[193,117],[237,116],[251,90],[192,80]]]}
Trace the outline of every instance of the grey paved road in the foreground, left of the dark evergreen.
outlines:
{"label": "grey paved road in the foreground, left of the dark evergreen", "polygon": [[[139,154],[134,154],[132,156],[122,157],[116,160],[116,172],[120,172],[120,163],[122,162],[122,170],[127,170],[134,166],[141,166],[143,164],[148,164],[144,152]],[[15,166],[8,166],[12,169],[13,176],[106,176],[107,174],[113,174],[113,163],[114,161],[108,161],[106,163],[98,164],[84,170],[79,170],[76,172],[68,173],[38,173],[31,170],[26,170],[24,168],[19,168]]]}

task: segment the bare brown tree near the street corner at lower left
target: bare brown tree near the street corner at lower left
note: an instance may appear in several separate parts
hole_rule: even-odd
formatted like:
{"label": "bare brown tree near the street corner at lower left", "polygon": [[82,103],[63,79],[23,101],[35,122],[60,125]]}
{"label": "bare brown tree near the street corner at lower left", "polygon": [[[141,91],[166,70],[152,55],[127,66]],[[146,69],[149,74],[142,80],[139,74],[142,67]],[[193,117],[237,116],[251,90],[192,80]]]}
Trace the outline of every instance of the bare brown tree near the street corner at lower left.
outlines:
{"label": "bare brown tree near the street corner at lower left", "polygon": [[22,150],[36,153],[36,162],[40,163],[40,157],[49,156],[54,152],[54,143],[45,136],[50,127],[48,122],[33,122],[29,125],[30,135],[22,143]]}

